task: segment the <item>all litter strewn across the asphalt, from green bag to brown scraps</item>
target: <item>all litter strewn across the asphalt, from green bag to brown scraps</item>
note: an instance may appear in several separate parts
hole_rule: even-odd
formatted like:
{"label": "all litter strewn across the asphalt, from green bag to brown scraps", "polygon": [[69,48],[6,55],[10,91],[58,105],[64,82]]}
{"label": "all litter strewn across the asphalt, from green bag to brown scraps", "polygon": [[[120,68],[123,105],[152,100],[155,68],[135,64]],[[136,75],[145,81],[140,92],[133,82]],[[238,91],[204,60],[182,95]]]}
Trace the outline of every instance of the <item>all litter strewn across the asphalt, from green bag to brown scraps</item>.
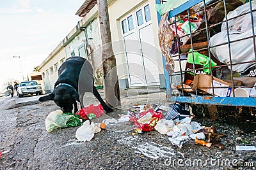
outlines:
{"label": "all litter strewn across the asphalt, from green bag to brown scraps", "polygon": [[157,106],[136,103],[127,110],[127,115],[120,115],[120,118],[116,119],[102,116],[102,106],[91,104],[77,111],[76,115],[63,113],[61,110],[52,111],[45,119],[45,127],[48,132],[52,132],[65,127],[80,126],[76,131],[76,138],[85,142],[91,141],[96,133],[107,129],[108,126],[118,127],[124,122],[132,122],[135,131],[132,135],[155,129],[160,134],[166,134],[172,145],[179,148],[189,139],[194,139],[195,144],[207,148],[213,145],[223,150],[225,146],[220,143],[219,138],[224,135],[218,134],[214,126],[202,127],[198,122],[192,121],[194,116],[190,110],[189,105],[183,103],[170,103],[168,107],[161,104]]}

